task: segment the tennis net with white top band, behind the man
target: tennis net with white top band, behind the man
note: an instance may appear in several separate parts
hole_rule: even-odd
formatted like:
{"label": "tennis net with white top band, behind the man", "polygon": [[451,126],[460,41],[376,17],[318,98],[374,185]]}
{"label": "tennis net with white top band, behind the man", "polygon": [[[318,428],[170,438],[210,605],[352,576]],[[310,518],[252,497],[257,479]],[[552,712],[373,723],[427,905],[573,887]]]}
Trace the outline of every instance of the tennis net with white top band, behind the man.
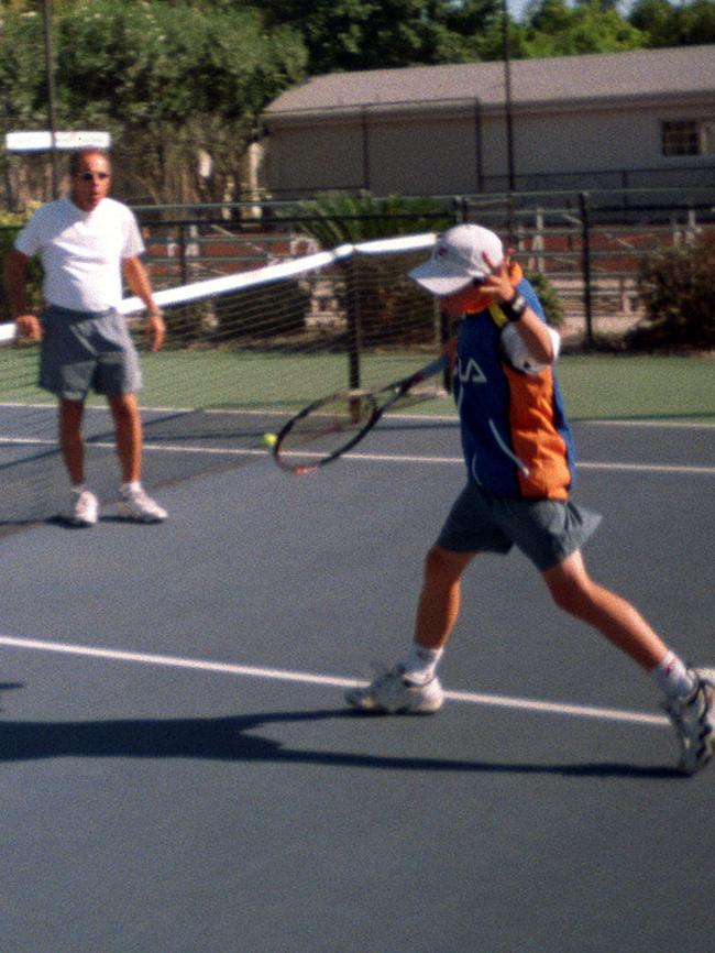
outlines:
{"label": "tennis net with white top band, behind the man", "polygon": [[[433,241],[345,244],[155,292],[167,339],[142,354],[145,485],[264,454],[262,435],[306,403],[424,363],[439,347],[439,313],[407,272]],[[120,310],[141,350],[141,302],[125,298]],[[37,351],[0,326],[0,529],[47,518],[66,497],[55,398],[36,385]],[[111,500],[113,428],[101,397],[90,395],[84,431],[88,483]]]}

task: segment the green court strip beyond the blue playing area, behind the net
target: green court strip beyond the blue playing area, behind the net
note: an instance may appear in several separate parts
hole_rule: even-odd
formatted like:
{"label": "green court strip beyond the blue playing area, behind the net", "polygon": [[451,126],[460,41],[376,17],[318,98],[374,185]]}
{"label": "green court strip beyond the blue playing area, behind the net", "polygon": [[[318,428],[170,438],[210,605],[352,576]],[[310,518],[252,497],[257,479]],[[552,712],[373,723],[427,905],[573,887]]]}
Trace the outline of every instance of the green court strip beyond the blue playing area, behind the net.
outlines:
{"label": "green court strip beyond the blue playing area, behind the net", "polygon": [[[34,355],[2,354],[0,402],[51,402],[34,386]],[[366,386],[389,383],[429,354],[362,357]],[[164,351],[144,354],[147,407],[246,407],[289,410],[348,383],[344,354]],[[715,357],[564,355],[558,376],[572,419],[715,420]],[[439,383],[439,381],[437,381]],[[101,403],[101,401],[99,402]],[[449,396],[416,405],[450,414]]]}

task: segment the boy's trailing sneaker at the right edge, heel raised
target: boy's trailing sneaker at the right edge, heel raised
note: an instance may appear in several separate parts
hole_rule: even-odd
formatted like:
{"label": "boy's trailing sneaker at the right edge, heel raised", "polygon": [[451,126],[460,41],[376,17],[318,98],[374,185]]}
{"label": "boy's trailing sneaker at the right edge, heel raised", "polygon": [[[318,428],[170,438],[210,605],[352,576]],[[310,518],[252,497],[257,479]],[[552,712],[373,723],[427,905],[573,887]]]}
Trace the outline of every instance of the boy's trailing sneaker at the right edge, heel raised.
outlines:
{"label": "boy's trailing sneaker at the right edge, heel raised", "polygon": [[704,768],[715,754],[715,668],[692,672],[696,684],[690,695],[663,704],[681,745],[678,767],[686,775]]}

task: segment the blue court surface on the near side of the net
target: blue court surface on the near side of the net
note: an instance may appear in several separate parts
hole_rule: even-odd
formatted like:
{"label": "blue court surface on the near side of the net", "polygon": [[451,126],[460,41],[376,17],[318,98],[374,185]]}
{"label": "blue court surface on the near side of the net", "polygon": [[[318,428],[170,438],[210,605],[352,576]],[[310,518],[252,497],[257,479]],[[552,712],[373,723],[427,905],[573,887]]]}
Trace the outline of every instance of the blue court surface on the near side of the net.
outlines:
{"label": "blue court surface on the near side of the net", "polygon": [[[715,427],[575,431],[593,576],[715,665]],[[715,767],[520,555],[466,574],[439,714],[345,709],[410,640],[453,419],[199,470],[161,526],[0,539],[2,953],[713,949]]]}

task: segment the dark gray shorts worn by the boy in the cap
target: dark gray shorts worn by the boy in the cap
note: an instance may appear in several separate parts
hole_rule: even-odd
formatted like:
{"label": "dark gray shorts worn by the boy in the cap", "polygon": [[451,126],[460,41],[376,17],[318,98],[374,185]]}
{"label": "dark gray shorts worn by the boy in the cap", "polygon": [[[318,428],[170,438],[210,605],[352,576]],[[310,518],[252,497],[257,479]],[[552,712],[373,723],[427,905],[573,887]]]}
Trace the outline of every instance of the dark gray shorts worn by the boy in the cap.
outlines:
{"label": "dark gray shorts worn by the boy in the cap", "polygon": [[471,481],[458,496],[438,538],[453,552],[499,552],[517,546],[543,572],[580,549],[601,514],[561,500],[515,500]]}

